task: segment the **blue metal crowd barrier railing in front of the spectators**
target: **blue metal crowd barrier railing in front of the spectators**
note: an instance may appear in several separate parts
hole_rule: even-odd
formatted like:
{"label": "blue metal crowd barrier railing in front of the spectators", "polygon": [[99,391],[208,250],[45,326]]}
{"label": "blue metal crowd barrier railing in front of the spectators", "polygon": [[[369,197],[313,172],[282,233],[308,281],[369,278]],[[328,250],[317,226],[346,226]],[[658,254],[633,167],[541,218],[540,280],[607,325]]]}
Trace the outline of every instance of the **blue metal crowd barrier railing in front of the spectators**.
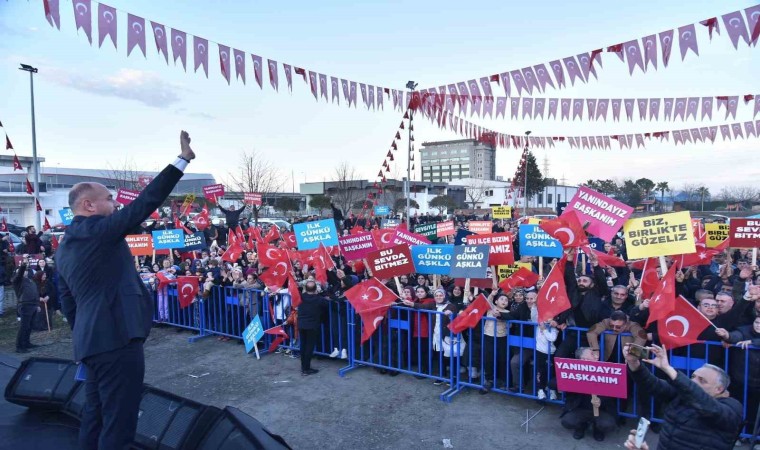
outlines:
{"label": "blue metal crowd barrier railing in front of the spectators", "polygon": [[[477,327],[459,335],[452,335],[448,329],[443,329],[434,338],[436,316],[442,316],[442,312],[394,306],[378,324],[377,331],[362,344],[363,324],[351,305],[347,302],[331,302],[330,305],[321,324],[321,336],[315,353],[329,356],[335,349],[339,352],[346,349],[347,365],[339,369],[340,376],[366,366],[432,379],[450,385],[440,394],[440,398],[447,402],[465,388],[487,388],[498,394],[529,399],[538,399],[539,389],[544,389],[544,392],[553,389],[554,355],[537,350],[536,323],[508,321],[506,335],[494,336],[502,334],[496,333],[498,319],[484,317]],[[187,308],[180,308],[176,288],[169,287],[162,308],[159,310],[157,302],[154,321],[165,319],[163,322],[166,324],[197,331],[197,336],[191,341],[212,334],[242,339],[243,330],[253,314],[259,314],[265,329],[285,326],[291,339],[281,347],[299,350],[295,324],[287,321],[292,312],[287,294],[215,287],[208,299],[199,299]],[[562,339],[569,344],[565,347],[572,350],[586,345],[586,331],[583,328],[563,330]],[[600,335],[599,353],[602,357],[606,353],[605,337],[611,333],[605,331]],[[626,336],[630,334],[616,336],[615,349],[608,361],[624,362],[621,338]],[[272,339],[272,336],[265,335],[263,344],[268,347]],[[719,342],[705,342],[668,352],[671,365],[686,375],[690,376],[705,363],[722,367],[728,372],[732,381],[729,391],[743,405],[745,423],[742,437],[752,436],[759,396],[756,391],[760,369],[751,366],[750,352],[760,352],[760,348],[750,346],[743,350],[726,348]],[[652,366],[648,369],[655,370]],[[617,401],[619,416],[644,416],[654,422],[662,422],[666,405],[640,392],[633,382],[629,382],[628,391],[627,399]],[[548,395],[546,397],[544,401],[559,405],[564,403],[561,393],[553,401]]]}

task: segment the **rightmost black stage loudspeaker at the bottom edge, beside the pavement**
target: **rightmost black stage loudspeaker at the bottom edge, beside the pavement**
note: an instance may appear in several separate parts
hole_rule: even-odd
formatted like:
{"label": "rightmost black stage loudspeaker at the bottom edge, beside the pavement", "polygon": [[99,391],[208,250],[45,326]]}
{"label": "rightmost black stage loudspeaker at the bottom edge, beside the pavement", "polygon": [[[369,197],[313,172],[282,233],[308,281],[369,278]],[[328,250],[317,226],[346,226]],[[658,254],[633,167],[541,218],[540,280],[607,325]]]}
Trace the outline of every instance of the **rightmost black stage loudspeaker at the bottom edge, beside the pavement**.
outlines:
{"label": "rightmost black stage loudspeaker at the bottom edge, beside the pavement", "polygon": [[287,449],[285,440],[272,434],[258,420],[228,406],[219,415],[197,450]]}

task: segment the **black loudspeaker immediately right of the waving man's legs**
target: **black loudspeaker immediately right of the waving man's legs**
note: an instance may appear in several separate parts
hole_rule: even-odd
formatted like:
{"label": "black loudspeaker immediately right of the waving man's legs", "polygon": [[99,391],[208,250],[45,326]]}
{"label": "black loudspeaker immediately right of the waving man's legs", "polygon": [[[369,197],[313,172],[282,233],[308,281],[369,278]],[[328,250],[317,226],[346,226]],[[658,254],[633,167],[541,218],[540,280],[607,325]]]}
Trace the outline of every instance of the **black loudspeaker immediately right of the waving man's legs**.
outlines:
{"label": "black loudspeaker immediately right of the waving man's legs", "polygon": [[220,414],[219,408],[146,385],[132,445],[145,450],[193,449]]}

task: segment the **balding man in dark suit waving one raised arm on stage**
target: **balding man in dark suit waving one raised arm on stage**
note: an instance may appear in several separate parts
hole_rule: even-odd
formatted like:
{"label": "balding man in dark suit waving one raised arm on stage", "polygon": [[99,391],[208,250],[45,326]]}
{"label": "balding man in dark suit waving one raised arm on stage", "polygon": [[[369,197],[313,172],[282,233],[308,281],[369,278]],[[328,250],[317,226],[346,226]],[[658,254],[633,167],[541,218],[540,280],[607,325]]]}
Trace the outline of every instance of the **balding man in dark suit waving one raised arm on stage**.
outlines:
{"label": "balding man in dark suit waving one raised arm on stage", "polygon": [[134,440],[153,297],[135,271],[124,236],[161,206],[195,158],[184,131],[180,146],[174,163],[119,211],[101,184],[78,183],[69,192],[74,220],[55,259],[74,358],[87,372],[79,432],[83,449],[122,449]]}

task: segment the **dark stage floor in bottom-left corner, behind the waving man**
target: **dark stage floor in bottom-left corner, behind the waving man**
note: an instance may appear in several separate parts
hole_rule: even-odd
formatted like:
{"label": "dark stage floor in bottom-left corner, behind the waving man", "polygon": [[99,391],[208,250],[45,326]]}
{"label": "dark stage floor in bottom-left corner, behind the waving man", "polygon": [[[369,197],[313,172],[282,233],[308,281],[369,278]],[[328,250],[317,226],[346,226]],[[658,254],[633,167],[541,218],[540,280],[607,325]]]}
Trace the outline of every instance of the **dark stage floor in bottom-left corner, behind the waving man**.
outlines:
{"label": "dark stage floor in bottom-left corner, behind the waving man", "polygon": [[[0,387],[10,381],[21,360],[0,353]],[[79,421],[60,413],[32,412],[0,398],[0,449],[75,450]]]}

